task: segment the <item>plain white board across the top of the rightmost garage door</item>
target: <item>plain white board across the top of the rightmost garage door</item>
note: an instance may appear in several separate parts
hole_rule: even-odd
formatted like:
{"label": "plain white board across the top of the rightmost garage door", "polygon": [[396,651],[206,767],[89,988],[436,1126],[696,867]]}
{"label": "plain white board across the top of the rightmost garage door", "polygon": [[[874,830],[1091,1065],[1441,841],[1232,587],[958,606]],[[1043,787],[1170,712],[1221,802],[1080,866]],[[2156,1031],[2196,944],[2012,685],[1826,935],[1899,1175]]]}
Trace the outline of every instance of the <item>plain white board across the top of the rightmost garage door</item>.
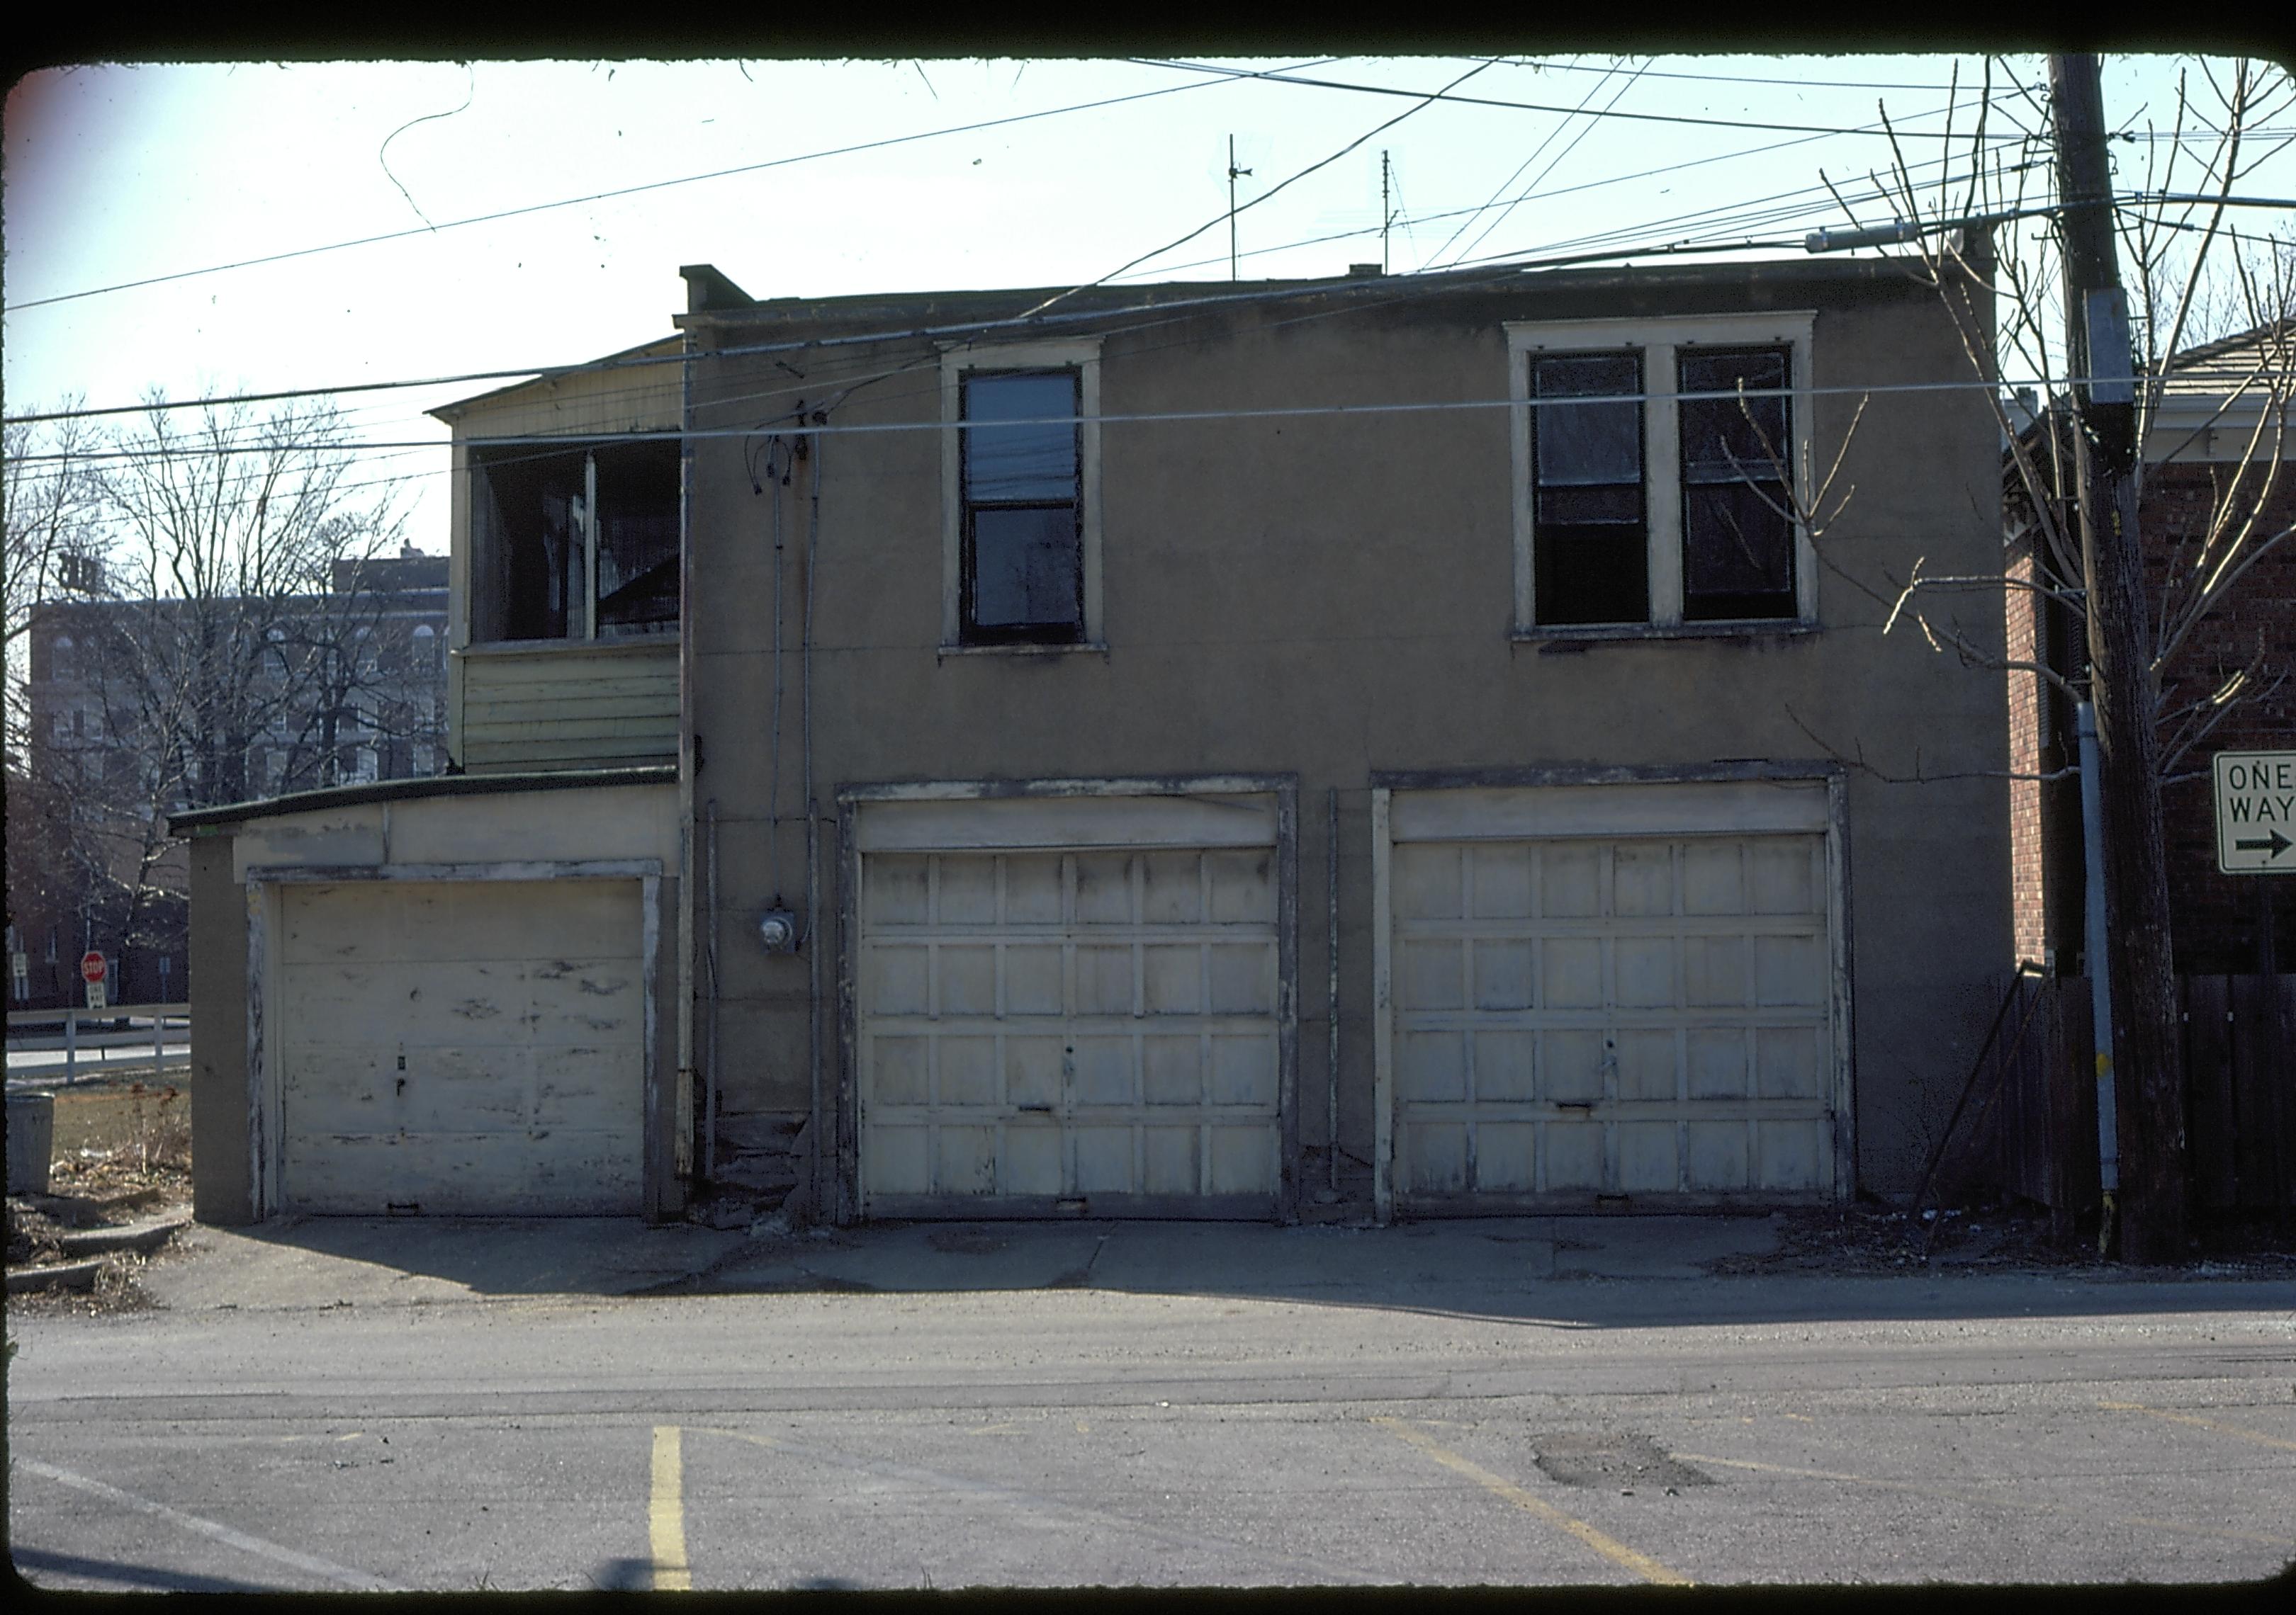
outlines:
{"label": "plain white board across the top of the rightmost garage door", "polygon": [[1750,835],[1825,830],[1825,780],[1683,780],[1649,785],[1518,785],[1405,791],[1396,842],[1557,835]]}

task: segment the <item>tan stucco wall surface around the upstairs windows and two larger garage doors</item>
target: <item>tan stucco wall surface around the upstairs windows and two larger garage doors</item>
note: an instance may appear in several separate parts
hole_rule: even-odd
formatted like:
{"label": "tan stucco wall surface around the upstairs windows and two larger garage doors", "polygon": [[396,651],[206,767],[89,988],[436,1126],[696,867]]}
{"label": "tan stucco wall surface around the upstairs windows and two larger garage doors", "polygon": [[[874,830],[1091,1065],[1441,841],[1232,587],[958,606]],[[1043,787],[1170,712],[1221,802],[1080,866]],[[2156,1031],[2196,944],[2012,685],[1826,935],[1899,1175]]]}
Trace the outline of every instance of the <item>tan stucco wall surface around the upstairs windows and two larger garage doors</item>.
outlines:
{"label": "tan stucco wall surface around the upstairs windows and two larger garage doors", "polygon": [[[1936,294],[1903,282],[1736,271],[1575,289],[1419,298],[1300,319],[1244,307],[1102,349],[1102,411],[1504,399],[1508,319],[1814,307],[1816,388],[1968,381]],[[877,314],[879,319],[882,312]],[[1283,323],[1290,321],[1290,323]],[[891,326],[893,321],[886,321]],[[923,323],[923,321],[916,321]],[[703,330],[762,342],[769,323]],[[836,351],[854,388],[833,424],[937,422],[923,344]],[[698,427],[755,427],[799,395],[765,360],[703,367]],[[774,392],[771,399],[758,395]],[[808,404],[810,406],[810,404]],[[1818,470],[1857,406],[1816,399]],[[799,1113],[808,1094],[804,957],[769,959],[748,922],[767,874],[767,709],[774,688],[771,500],[744,447],[696,443],[689,493],[693,725],[716,801],[723,906],[723,1108]],[[822,438],[815,580],[815,798],[843,785],[1045,775],[1297,773],[1302,801],[1300,1094],[1320,1142],[1325,1085],[1325,789],[1341,791],[1341,1138],[1371,1154],[1373,771],[1694,766],[1862,759],[1848,778],[1860,1179],[1910,1188],[2009,963],[2002,679],[1880,624],[1915,555],[1929,574],[2000,564],[1998,429],[1984,397],[1874,395],[1825,532],[1821,629],[1800,635],[1513,642],[1511,457],[1504,408],[1102,427],[1107,654],[937,656],[939,431]],[[804,895],[797,601],[810,463],[783,493],[785,617],[781,892]],[[2000,649],[1998,599],[1942,606]],[[1805,727],[1809,732],[1805,732]],[[1816,734],[1818,739],[1812,739]],[[1894,785],[1885,775],[1924,775]],[[836,947],[833,817],[822,945]],[[836,954],[824,980],[836,982]],[[824,1019],[833,1028],[836,1021]],[[833,1035],[833,1032],[831,1032]],[[827,1051],[836,1071],[836,1044]],[[737,1129],[735,1119],[728,1126]]]}

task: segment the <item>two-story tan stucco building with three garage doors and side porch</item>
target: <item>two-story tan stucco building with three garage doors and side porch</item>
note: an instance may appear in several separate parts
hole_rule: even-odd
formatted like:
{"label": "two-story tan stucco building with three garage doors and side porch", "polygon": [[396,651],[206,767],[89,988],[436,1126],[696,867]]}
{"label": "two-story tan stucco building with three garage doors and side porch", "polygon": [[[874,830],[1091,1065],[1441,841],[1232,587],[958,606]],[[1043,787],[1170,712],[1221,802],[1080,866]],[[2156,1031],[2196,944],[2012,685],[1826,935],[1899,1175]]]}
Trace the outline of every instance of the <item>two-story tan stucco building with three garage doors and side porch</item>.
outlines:
{"label": "two-story tan stucco building with three garage doors and side porch", "polygon": [[202,1216],[1910,1188],[2011,950],[1936,289],[684,275],[441,411],[459,778],[188,819]]}

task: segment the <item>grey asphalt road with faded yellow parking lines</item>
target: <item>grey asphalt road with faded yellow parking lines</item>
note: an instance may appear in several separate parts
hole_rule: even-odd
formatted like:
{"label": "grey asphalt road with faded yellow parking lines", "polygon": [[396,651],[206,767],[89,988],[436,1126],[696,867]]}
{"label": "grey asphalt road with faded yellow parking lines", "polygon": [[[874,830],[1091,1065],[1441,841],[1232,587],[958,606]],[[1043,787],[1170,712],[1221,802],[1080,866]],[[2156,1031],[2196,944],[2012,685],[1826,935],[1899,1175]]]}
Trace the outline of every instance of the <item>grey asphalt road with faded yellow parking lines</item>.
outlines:
{"label": "grey asphalt road with faded yellow parking lines", "polygon": [[1421,1280],[1357,1294],[1093,1266],[461,1301],[397,1275],[395,1303],[374,1269],[324,1305],[14,1317],[16,1565],[115,1590],[2216,1583],[2296,1555],[2291,1282],[1460,1285],[1414,1250]]}

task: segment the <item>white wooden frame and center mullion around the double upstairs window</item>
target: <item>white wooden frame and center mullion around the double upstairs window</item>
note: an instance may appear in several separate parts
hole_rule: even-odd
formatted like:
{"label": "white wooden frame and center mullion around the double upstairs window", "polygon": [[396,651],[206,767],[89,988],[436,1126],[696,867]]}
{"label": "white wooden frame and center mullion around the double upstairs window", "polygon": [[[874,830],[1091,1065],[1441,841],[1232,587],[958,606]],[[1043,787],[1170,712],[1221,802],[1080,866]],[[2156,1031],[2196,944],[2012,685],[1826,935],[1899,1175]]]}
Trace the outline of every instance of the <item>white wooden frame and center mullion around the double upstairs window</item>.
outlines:
{"label": "white wooden frame and center mullion around the double upstairs window", "polygon": [[[1515,622],[1518,640],[1708,638],[1793,633],[1818,626],[1816,546],[1807,523],[1793,523],[1791,617],[1683,615],[1683,477],[1681,477],[1681,349],[1789,351],[1786,445],[1798,502],[1809,500],[1812,337],[1816,310],[1761,314],[1674,314],[1655,319],[1538,319],[1506,321],[1506,395],[1513,459]],[[1564,353],[1639,353],[1642,358],[1642,484],[1644,541],[1649,544],[1649,615],[1642,622],[1543,624],[1536,587],[1536,489],[1531,486],[1531,360]]]}

